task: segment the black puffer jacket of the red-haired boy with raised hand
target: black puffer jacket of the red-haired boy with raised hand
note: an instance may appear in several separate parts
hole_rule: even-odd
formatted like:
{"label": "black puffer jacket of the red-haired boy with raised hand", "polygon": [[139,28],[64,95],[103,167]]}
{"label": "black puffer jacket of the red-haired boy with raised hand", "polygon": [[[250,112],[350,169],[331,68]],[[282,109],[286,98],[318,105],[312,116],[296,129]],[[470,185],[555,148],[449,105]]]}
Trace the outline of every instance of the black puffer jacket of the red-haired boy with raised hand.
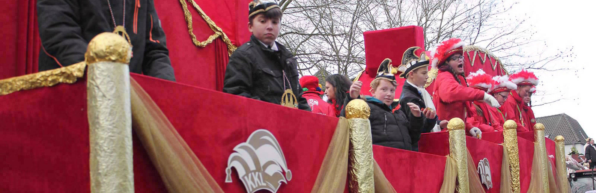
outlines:
{"label": "black puffer jacket of the red-haired boy with raised hand", "polygon": [[[352,99],[348,96],[344,106],[350,100]],[[371,122],[373,144],[412,150],[412,142],[418,143],[418,141],[412,141],[410,136],[420,136],[424,118],[415,116],[406,118],[405,113],[401,110],[392,112],[393,107],[398,105],[397,102],[394,102],[391,108],[370,96],[366,97],[366,102],[371,109],[371,115],[368,119]],[[342,116],[344,115],[345,112],[342,110]]]}

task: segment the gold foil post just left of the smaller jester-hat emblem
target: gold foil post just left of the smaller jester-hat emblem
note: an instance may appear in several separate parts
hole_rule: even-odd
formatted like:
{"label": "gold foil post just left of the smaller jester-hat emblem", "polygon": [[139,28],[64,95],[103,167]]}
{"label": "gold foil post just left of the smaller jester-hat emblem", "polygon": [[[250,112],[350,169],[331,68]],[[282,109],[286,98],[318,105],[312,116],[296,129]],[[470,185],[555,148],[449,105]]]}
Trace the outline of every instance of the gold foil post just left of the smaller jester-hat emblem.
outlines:
{"label": "gold foil post just left of the smaller jester-hat emblem", "polygon": [[470,192],[468,182],[468,151],[465,146],[465,124],[460,118],[453,118],[447,124],[449,131],[449,154],[457,164],[457,187],[459,193]]}

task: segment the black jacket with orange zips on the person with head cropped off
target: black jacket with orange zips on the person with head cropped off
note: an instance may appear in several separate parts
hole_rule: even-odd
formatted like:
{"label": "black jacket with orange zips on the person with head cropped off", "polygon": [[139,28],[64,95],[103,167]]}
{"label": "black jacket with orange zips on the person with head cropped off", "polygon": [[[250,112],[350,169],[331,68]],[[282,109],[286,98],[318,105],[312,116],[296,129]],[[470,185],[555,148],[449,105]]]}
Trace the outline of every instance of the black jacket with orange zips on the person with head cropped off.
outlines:
{"label": "black jacket with orange zips on the person with head cropped off", "polygon": [[[129,69],[152,77],[175,81],[174,70],[153,0],[110,0],[116,25],[122,25],[132,43]],[[82,62],[87,44],[97,34],[114,31],[107,0],[38,0],[39,71]],[[45,53],[44,52],[45,49]],[[54,57],[54,58],[52,58]]]}

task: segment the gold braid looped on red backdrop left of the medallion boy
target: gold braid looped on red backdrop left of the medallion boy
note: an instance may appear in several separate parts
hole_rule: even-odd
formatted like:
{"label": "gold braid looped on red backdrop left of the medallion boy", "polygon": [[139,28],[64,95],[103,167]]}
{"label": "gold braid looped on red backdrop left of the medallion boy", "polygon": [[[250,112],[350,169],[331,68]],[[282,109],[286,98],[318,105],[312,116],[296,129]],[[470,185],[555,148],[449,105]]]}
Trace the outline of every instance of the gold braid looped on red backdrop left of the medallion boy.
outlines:
{"label": "gold braid looped on red backdrop left of the medallion boy", "polygon": [[184,19],[187,21],[188,24],[188,34],[190,34],[191,39],[193,39],[194,45],[204,48],[205,46],[212,43],[213,40],[215,40],[216,38],[221,37],[222,40],[224,40],[224,43],[228,46],[228,55],[232,55],[232,52],[236,50],[236,46],[232,44],[232,42],[229,40],[228,36],[224,33],[224,31],[221,28],[219,28],[213,22],[213,20],[211,20],[211,18],[209,18],[209,16],[207,16],[207,14],[203,12],[203,10],[201,10],[201,7],[198,7],[197,3],[194,2],[194,0],[187,0],[188,2],[193,4],[193,7],[195,8],[195,10],[197,10],[198,15],[201,15],[203,20],[205,20],[205,22],[209,25],[209,28],[213,30],[213,32],[215,32],[215,34],[209,36],[209,38],[207,38],[207,40],[204,40],[203,42],[199,42],[197,40],[197,36],[195,36],[195,34],[193,33],[193,15],[191,15],[190,11],[188,11],[187,3],[184,0],[179,1],[180,4],[182,4],[182,10],[184,10]]}

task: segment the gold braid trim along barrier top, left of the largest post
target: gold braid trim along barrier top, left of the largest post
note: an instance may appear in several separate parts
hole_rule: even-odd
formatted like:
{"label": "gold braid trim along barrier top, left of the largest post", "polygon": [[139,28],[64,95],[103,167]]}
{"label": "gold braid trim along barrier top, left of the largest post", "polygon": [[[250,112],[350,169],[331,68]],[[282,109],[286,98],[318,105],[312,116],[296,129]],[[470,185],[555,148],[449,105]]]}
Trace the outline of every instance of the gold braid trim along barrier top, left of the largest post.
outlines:
{"label": "gold braid trim along barrier top, left of the largest post", "polygon": [[0,80],[0,96],[19,90],[51,87],[58,83],[75,83],[77,78],[83,77],[85,74],[86,66],[85,62],[79,62],[68,67]]}

